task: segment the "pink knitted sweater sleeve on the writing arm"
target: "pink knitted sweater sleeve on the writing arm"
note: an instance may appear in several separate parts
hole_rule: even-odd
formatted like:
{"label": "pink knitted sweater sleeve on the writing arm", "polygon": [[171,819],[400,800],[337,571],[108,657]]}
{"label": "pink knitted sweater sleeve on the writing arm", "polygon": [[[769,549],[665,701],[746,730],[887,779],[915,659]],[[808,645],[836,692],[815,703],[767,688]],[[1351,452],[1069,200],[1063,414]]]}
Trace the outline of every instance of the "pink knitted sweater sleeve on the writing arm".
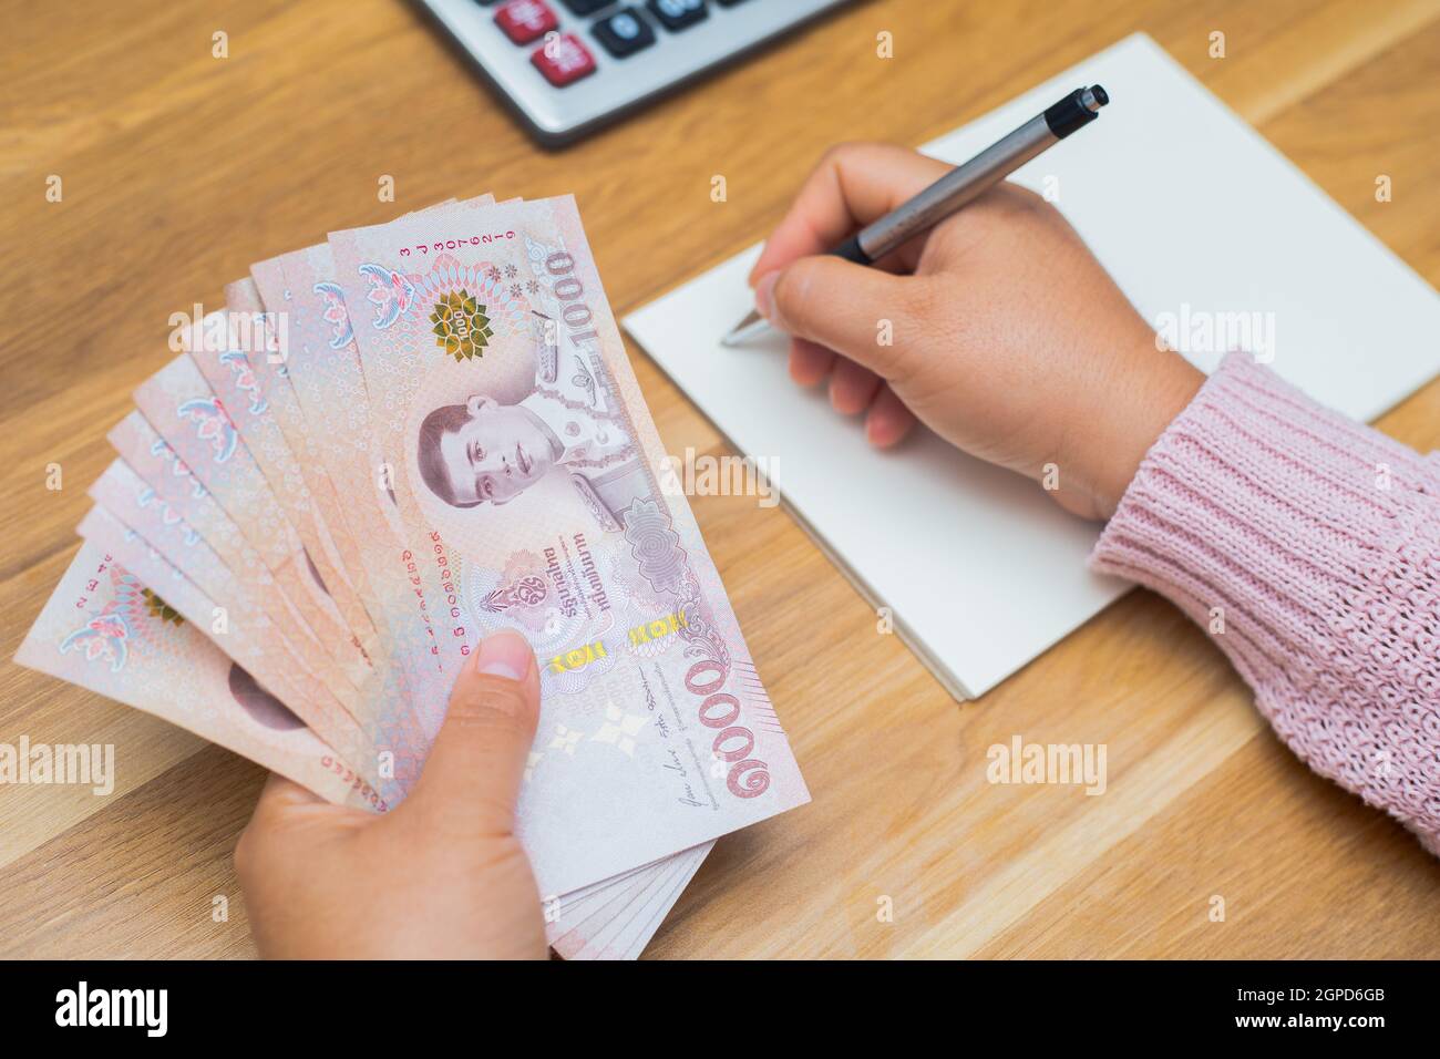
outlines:
{"label": "pink knitted sweater sleeve on the writing arm", "polygon": [[1440,454],[1233,353],[1090,563],[1179,605],[1290,749],[1440,854]]}

